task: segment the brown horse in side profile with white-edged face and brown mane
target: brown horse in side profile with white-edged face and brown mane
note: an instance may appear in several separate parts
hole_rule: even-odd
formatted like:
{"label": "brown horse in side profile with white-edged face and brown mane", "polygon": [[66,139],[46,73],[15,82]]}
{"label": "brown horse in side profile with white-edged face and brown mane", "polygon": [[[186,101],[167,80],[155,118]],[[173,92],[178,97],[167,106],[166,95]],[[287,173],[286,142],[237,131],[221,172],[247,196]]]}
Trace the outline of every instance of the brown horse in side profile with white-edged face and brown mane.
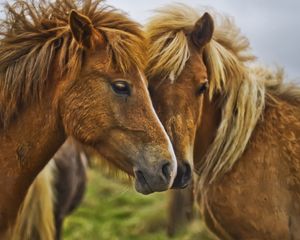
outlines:
{"label": "brown horse in side profile with white-edged face and brown mane", "polygon": [[172,185],[177,164],[147,92],[138,24],[101,0],[16,0],[1,35],[0,239],[66,136],[135,175],[141,193]]}

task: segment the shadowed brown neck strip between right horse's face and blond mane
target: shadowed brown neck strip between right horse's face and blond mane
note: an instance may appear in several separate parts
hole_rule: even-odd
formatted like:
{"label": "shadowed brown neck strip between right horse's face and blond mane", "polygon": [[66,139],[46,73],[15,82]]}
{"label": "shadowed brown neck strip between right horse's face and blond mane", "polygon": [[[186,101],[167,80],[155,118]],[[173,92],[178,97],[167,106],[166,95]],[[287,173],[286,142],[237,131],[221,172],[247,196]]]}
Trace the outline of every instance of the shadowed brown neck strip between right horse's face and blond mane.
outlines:
{"label": "shadowed brown neck strip between right horse's face and blond mane", "polygon": [[219,97],[214,96],[209,99],[208,94],[204,96],[201,122],[196,131],[194,147],[194,164],[198,166],[213,143],[221,122],[221,109],[219,107]]}

